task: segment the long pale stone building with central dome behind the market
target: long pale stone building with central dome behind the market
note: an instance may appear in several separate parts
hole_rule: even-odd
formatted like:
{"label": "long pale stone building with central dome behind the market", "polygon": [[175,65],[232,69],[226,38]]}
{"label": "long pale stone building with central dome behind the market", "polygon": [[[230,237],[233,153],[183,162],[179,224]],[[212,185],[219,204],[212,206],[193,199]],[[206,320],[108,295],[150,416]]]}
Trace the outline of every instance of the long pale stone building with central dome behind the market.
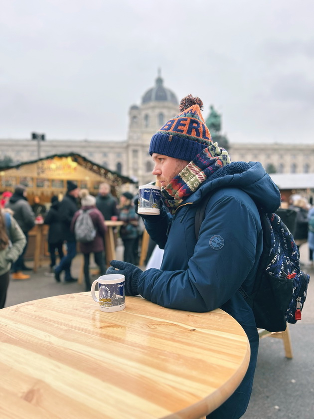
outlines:
{"label": "long pale stone building with central dome behind the market", "polygon": [[[129,109],[129,127],[125,141],[66,141],[40,142],[40,157],[69,152],[79,153],[87,159],[132,179],[139,185],[154,180],[153,161],[149,144],[153,134],[178,113],[178,100],[163,86],[158,75],[156,84],[142,97],[141,105]],[[205,118],[207,115],[204,115]],[[229,138],[232,161],[260,161],[269,172],[314,174],[314,143],[290,144],[235,144]],[[0,159],[9,156],[14,162],[36,160],[37,142],[28,140],[0,140]]]}

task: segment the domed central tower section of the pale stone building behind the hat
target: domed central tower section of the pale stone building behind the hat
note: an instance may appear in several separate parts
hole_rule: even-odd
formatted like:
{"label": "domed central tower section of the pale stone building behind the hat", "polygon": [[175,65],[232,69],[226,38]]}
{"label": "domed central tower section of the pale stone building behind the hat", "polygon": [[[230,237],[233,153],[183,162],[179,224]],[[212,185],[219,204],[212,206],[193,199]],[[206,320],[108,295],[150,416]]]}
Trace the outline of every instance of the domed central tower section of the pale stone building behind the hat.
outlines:
{"label": "domed central tower section of the pale stone building behind the hat", "polygon": [[178,100],[170,89],[164,87],[159,71],[155,86],[144,93],[141,105],[132,105],[129,110],[128,173],[135,176],[140,185],[154,180],[154,165],[148,153],[152,136],[178,112]]}

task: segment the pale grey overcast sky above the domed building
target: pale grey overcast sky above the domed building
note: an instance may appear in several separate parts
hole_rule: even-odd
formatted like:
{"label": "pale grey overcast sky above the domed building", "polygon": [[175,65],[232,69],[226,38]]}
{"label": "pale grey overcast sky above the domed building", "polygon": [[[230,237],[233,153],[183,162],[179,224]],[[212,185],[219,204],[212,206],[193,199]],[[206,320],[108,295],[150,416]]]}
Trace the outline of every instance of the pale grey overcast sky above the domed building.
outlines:
{"label": "pale grey overcast sky above the domed building", "polygon": [[313,16],[313,0],[2,1],[0,138],[125,140],[161,68],[230,142],[313,143]]}

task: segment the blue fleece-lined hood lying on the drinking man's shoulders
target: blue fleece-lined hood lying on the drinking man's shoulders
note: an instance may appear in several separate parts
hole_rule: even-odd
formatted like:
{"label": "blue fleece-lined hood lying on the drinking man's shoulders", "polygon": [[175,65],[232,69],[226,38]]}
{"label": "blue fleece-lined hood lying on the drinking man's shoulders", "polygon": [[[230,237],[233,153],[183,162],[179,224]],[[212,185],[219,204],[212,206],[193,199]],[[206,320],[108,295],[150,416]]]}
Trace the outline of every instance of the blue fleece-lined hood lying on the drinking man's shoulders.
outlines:
{"label": "blue fleece-lined hood lying on the drinking man's shoulders", "polygon": [[198,203],[204,195],[220,188],[241,189],[266,212],[275,212],[280,207],[279,189],[259,162],[233,162],[224,166],[210,176],[188,201]]}

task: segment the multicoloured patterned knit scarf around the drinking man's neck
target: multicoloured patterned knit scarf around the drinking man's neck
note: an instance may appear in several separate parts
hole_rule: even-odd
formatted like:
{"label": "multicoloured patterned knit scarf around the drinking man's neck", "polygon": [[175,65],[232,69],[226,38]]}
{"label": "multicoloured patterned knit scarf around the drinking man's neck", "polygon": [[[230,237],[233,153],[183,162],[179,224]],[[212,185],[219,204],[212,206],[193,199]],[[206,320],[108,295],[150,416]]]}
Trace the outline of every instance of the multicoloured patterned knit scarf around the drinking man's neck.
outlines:
{"label": "multicoloured patterned knit scarf around the drinking man's neck", "polygon": [[228,152],[217,143],[203,149],[172,181],[161,188],[162,201],[174,214],[184,199],[195,192],[200,185],[218,169],[230,163]]}

